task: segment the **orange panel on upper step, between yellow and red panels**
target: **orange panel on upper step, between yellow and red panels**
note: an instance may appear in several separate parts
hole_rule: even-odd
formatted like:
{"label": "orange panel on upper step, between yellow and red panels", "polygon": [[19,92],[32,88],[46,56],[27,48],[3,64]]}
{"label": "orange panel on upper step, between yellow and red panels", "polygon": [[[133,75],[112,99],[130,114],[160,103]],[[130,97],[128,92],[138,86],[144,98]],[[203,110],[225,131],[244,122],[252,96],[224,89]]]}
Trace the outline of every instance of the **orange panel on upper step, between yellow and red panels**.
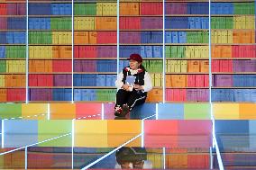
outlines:
{"label": "orange panel on upper step, between yellow and red panels", "polygon": [[72,120],[76,118],[76,104],[50,103],[51,120]]}

